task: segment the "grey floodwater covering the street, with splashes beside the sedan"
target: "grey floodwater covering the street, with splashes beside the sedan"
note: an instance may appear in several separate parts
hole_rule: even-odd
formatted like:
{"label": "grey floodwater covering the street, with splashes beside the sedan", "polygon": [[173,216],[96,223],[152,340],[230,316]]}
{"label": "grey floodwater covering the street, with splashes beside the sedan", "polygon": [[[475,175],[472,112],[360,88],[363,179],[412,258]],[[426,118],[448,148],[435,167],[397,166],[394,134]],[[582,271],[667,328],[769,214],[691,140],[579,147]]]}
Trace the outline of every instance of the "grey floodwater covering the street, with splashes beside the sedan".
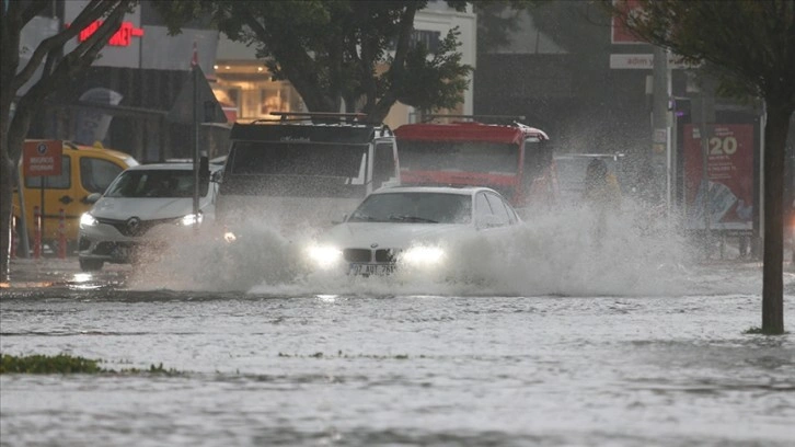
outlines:
{"label": "grey floodwater covering the street, with splashes beside the sedan", "polygon": [[3,290],[2,353],[181,374],[2,375],[0,445],[795,444],[795,339],[745,333],[759,265],[565,221],[462,243],[475,283],[286,282],[269,272],[293,242],[263,230],[258,280],[206,243]]}

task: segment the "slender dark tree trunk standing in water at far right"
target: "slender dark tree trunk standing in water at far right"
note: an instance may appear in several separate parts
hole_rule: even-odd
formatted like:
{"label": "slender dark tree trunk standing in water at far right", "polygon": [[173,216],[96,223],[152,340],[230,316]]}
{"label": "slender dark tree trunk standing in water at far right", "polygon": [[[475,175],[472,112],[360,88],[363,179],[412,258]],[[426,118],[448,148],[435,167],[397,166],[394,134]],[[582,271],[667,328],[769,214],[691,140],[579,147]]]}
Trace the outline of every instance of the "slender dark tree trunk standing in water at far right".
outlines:
{"label": "slender dark tree trunk standing in water at far right", "polygon": [[768,102],[764,128],[762,333],[784,333],[784,156],[792,110]]}

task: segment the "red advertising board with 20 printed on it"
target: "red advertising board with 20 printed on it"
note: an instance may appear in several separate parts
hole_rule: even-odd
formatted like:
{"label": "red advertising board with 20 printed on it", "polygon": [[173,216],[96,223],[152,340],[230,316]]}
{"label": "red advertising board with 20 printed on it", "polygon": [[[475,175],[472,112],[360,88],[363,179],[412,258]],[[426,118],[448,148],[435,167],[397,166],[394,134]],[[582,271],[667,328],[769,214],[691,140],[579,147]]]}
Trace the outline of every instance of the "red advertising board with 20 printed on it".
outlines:
{"label": "red advertising board with 20 printed on it", "polygon": [[683,137],[688,228],[753,229],[753,125],[716,124],[705,147],[692,124]]}

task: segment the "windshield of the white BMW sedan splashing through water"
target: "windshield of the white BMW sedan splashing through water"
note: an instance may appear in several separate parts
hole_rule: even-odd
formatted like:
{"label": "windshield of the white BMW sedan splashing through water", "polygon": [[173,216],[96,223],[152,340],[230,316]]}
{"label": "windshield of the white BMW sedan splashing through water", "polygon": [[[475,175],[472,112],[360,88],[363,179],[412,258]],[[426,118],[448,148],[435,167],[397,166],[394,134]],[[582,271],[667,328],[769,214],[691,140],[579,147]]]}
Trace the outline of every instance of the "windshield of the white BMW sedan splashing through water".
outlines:
{"label": "windshield of the white BMW sedan splashing through water", "polygon": [[463,194],[372,194],[350,215],[349,222],[469,224],[472,198]]}

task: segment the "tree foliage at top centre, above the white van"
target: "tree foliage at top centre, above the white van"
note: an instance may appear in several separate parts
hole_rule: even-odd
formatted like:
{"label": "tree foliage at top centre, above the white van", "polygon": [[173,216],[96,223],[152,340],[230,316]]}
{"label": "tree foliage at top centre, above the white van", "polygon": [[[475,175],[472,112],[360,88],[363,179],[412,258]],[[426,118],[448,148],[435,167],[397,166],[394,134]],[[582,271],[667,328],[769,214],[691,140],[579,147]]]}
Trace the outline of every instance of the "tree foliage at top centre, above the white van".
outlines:
{"label": "tree foliage at top centre, above the white van", "polygon": [[[522,1],[507,2],[525,3]],[[461,64],[457,32],[436,54],[413,45],[414,16],[427,1],[199,1],[152,3],[177,33],[197,15],[230,39],[254,47],[277,79],[289,80],[311,111],[364,112],[381,122],[395,101],[453,107],[472,68]],[[448,1],[463,11],[466,1]],[[385,70],[384,70],[384,67]]]}

